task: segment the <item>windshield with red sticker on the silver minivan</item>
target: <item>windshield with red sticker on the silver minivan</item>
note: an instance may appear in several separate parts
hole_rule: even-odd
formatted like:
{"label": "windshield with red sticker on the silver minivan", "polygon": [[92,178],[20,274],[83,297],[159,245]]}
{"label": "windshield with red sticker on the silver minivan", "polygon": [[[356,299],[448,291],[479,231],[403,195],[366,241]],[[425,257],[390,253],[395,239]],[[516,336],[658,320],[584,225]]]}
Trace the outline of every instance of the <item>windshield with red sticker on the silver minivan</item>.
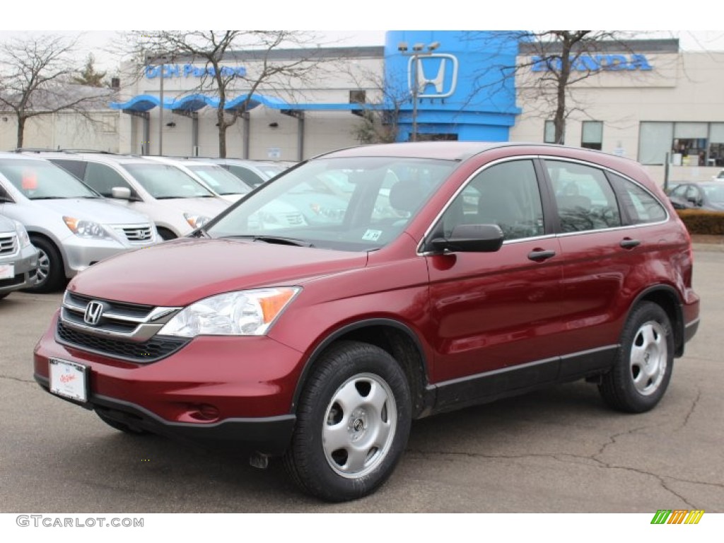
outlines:
{"label": "windshield with red sticker on the silver minivan", "polygon": [[61,167],[42,160],[0,160],[0,174],[30,200],[101,198]]}

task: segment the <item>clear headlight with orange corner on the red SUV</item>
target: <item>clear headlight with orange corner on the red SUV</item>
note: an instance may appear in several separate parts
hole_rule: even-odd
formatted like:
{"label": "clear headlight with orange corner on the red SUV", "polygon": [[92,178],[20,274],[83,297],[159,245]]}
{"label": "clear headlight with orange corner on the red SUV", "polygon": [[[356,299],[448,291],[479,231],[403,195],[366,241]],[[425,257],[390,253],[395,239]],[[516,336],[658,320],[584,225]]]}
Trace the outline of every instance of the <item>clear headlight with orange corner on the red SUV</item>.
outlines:
{"label": "clear headlight with orange corner on the red SUV", "polygon": [[180,311],[159,334],[261,336],[300,290],[274,287],[211,296]]}

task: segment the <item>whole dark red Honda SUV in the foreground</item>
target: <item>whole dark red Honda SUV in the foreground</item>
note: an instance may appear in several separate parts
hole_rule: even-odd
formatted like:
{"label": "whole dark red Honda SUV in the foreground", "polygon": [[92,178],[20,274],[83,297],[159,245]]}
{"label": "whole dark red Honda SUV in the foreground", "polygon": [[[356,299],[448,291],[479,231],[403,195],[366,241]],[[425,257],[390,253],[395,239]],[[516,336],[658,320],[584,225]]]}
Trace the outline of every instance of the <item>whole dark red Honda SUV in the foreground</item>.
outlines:
{"label": "whole dark red Honda SUV in the foreground", "polygon": [[[279,202],[306,219],[275,224]],[[656,405],[696,332],[689,235],[635,161],[513,143],[328,153],[70,282],[35,379],[124,432],[373,492],[413,418],[587,379]]]}

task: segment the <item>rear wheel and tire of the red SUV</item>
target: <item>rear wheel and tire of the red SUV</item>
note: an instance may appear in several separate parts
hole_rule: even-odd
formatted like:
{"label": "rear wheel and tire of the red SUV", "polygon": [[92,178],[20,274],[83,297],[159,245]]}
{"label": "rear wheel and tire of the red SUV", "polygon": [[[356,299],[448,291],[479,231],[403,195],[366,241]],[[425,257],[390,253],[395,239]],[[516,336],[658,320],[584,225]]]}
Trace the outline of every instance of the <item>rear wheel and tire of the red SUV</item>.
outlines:
{"label": "rear wheel and tire of the red SUV", "polygon": [[599,391],[610,407],[644,413],[663,397],[671,379],[674,340],[671,322],[656,303],[636,306],[626,320],[620,348]]}

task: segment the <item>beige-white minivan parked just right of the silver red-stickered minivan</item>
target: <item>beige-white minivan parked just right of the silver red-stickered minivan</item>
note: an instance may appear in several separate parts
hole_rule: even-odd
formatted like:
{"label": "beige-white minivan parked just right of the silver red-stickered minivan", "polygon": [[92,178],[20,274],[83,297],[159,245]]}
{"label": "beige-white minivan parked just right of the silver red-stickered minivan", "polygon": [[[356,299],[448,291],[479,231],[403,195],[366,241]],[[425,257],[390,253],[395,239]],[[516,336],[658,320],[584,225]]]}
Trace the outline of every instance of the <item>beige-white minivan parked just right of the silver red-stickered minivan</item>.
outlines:
{"label": "beige-white minivan parked just right of the silver red-stickered minivan", "polygon": [[63,151],[38,155],[106,198],[151,217],[164,240],[189,234],[230,205],[177,167],[143,156]]}

